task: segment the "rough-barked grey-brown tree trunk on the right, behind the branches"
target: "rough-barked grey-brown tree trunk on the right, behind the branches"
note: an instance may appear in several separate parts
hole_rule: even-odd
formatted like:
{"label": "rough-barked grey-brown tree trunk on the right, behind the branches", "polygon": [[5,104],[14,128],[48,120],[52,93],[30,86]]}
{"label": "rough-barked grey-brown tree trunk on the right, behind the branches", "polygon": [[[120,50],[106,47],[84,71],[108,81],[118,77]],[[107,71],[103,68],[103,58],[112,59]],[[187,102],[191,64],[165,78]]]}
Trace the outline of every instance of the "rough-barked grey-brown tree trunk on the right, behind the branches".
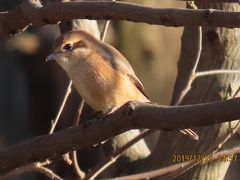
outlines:
{"label": "rough-barked grey-brown tree trunk on the right, behind the branches", "polygon": [[[240,6],[236,3],[211,3],[198,4],[199,8],[216,8],[228,11],[239,11]],[[240,68],[240,44],[239,29],[225,28],[203,28],[202,53],[197,71],[213,69]],[[191,73],[194,57],[197,53],[197,28],[186,27],[182,36],[182,49],[178,62],[178,76],[172,104],[176,102],[180,92],[186,86]],[[239,78],[237,74],[219,74],[197,78],[191,90],[185,96],[182,104],[197,104],[232,98],[238,94]],[[176,114],[177,115],[177,114]],[[236,122],[231,123],[231,127]],[[162,132],[157,146],[151,156],[147,159],[145,167],[154,169],[172,165],[174,155],[206,155],[206,150],[214,146],[224,136],[229,128],[229,123],[214,126],[195,128],[194,131],[200,136],[199,141],[193,141],[187,136],[176,132]],[[233,138],[229,140],[224,148],[236,145]],[[182,161],[180,161],[182,162]],[[147,164],[147,165],[146,165]],[[228,162],[220,160],[198,165],[190,171],[179,176],[178,179],[223,179],[228,169]]]}

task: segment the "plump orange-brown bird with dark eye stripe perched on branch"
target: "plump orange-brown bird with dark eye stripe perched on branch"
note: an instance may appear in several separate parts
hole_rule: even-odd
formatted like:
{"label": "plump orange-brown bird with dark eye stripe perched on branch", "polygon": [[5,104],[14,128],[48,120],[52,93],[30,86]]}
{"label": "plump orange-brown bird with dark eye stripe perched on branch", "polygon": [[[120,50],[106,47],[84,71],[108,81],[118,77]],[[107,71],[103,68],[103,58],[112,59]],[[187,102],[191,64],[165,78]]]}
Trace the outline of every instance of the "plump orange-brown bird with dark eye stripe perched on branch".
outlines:
{"label": "plump orange-brown bird with dark eye stripe perched on branch", "polygon": [[[77,92],[97,112],[108,113],[132,100],[150,102],[127,59],[111,45],[85,31],[62,34],[46,60],[55,60],[60,65]],[[139,134],[139,130],[117,136],[116,146],[123,145],[134,134]],[[144,156],[149,155],[148,147],[143,148],[143,141],[139,144],[141,151],[146,152]]]}

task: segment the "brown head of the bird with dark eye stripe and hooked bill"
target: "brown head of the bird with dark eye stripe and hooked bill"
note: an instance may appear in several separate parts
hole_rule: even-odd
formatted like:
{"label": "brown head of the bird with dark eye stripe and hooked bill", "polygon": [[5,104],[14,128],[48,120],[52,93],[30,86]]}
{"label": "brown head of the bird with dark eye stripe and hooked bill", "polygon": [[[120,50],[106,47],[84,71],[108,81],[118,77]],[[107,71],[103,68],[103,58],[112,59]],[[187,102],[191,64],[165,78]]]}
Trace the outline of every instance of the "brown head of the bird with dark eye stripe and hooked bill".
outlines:
{"label": "brown head of the bird with dark eye stripe and hooked bill", "polygon": [[99,42],[85,31],[70,31],[58,37],[46,61],[55,60],[63,68],[87,59]]}

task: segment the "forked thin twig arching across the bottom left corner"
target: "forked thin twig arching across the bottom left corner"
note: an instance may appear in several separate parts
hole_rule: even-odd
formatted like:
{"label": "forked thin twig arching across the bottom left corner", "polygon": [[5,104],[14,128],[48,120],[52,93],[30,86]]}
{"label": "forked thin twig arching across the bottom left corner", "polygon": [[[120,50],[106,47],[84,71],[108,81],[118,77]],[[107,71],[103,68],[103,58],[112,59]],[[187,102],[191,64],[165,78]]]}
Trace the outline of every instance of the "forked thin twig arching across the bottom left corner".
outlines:
{"label": "forked thin twig arching across the bottom left corner", "polygon": [[63,180],[61,177],[59,177],[57,174],[55,174],[53,171],[50,169],[43,167],[46,165],[49,165],[51,162],[50,161],[45,161],[43,163],[36,162],[36,163],[31,163],[25,166],[18,167],[7,174],[0,176],[1,180],[7,180],[16,176],[19,176],[24,173],[28,172],[39,172],[41,174],[44,174],[45,176],[49,177],[50,179],[53,180]]}

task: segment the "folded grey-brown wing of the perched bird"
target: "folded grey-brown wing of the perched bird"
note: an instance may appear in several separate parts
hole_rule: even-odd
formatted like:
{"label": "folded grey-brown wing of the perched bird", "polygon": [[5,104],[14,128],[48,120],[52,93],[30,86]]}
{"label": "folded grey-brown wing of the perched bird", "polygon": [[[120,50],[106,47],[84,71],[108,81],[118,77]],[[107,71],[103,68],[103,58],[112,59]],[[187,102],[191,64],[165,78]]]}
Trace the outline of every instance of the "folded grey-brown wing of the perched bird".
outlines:
{"label": "folded grey-brown wing of the perched bird", "polygon": [[141,81],[137,78],[136,74],[134,73],[132,66],[126,60],[126,58],[115,48],[112,46],[105,44],[105,55],[104,59],[116,70],[120,73],[129,77],[129,79],[133,82],[133,84],[137,87],[137,89],[147,98],[149,99],[148,95],[146,94],[144,87]]}

